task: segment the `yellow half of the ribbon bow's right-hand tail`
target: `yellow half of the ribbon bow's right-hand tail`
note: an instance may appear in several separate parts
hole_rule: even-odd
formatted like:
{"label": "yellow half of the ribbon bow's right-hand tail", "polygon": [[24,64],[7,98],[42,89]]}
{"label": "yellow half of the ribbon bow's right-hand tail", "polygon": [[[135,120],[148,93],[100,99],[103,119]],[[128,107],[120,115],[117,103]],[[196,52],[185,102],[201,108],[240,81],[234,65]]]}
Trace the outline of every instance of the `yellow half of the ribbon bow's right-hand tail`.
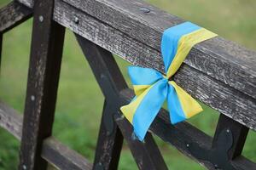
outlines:
{"label": "yellow half of the ribbon bow's right-hand tail", "polygon": [[196,114],[203,111],[201,105],[192,98],[187,92],[180,88],[175,82],[169,82],[172,84],[172,87],[175,89],[177,98],[183,110],[183,114],[185,118],[189,118],[191,116],[195,116]]}

